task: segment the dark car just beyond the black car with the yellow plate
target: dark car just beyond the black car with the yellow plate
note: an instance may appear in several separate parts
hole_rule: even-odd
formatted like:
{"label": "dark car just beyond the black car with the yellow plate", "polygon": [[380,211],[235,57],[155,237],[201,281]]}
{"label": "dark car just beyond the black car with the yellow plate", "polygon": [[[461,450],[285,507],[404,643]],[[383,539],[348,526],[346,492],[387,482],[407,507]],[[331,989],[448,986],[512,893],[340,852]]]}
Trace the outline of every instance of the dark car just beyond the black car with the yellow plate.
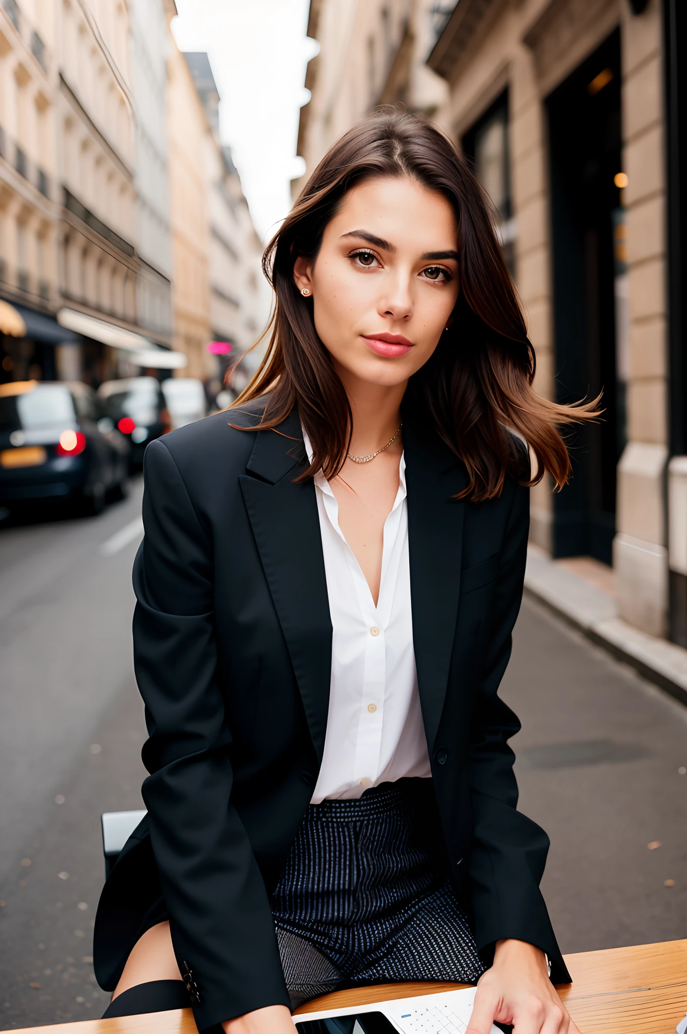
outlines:
{"label": "dark car just beyond the black car with the yellow plate", "polygon": [[155,377],[122,377],[98,388],[104,413],[131,443],[131,464],[141,466],[146,446],[170,430],[170,414]]}

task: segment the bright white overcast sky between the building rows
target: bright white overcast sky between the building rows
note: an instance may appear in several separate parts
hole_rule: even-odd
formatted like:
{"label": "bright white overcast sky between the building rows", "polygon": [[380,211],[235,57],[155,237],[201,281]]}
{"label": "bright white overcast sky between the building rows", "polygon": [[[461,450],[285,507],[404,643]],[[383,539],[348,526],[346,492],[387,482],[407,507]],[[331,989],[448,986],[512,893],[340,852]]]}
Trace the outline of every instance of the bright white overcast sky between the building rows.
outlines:
{"label": "bright white overcast sky between the building rows", "polygon": [[221,97],[219,131],[230,144],[256,229],[266,237],[291,207],[305,65],[308,0],[177,0],[172,23],[182,51],[207,51]]}

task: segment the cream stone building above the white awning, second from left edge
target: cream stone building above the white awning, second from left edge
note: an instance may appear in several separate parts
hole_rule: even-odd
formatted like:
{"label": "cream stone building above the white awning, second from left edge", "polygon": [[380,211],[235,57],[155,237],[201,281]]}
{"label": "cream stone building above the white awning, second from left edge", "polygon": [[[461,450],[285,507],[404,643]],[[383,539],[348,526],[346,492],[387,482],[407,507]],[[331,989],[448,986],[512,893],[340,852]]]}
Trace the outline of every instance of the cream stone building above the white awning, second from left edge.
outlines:
{"label": "cream stone building above the white awning, second from left edge", "polygon": [[[58,0],[54,17],[63,308],[138,332],[141,264],[128,6]],[[78,357],[74,349],[63,349],[62,375],[93,381],[117,375],[118,357],[102,341],[84,336],[78,348]]]}

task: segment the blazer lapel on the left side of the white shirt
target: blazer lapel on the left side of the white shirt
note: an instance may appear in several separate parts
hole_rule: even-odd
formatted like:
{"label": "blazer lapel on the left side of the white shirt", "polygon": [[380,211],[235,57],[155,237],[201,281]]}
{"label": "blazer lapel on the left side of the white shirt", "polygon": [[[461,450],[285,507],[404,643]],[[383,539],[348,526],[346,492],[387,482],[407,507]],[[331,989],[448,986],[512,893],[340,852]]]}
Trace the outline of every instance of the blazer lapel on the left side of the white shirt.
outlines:
{"label": "blazer lapel on the left side of the white shirt", "polygon": [[318,761],[329,709],[332,626],[320,519],[296,408],[278,431],[259,431],[239,478],[248,518],[298,682]]}

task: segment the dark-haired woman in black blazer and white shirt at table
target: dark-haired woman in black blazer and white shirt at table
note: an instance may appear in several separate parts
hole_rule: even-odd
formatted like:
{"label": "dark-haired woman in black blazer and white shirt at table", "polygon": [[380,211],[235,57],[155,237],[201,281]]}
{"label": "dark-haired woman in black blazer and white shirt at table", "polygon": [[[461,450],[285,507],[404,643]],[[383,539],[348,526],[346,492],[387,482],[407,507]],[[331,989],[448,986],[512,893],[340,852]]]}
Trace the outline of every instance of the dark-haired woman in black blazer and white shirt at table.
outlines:
{"label": "dark-haired woman in black blazer and white shirt at table", "polygon": [[323,991],[450,979],[470,1034],[574,1031],[497,690],[528,486],[591,406],[533,392],[487,202],[417,117],[335,144],[264,268],[258,374],[146,452],[148,815],[100,900],[106,1015],[287,1034]]}

